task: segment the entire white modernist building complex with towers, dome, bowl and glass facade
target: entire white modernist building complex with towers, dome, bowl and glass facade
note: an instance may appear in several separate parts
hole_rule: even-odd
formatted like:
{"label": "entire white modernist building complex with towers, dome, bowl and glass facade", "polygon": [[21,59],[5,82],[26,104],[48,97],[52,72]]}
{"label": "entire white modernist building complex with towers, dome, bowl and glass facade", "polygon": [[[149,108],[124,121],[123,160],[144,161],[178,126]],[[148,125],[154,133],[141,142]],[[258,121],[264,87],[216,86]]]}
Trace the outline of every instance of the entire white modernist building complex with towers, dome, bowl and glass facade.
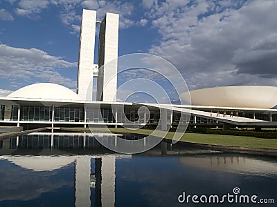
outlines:
{"label": "entire white modernist building complex with towers, dome, bowl and glass facade", "polygon": [[[100,23],[98,64],[93,63],[96,23]],[[36,83],[0,98],[0,125],[82,126],[157,125],[276,127],[276,87],[233,86],[195,90],[181,98],[192,105],[116,102],[119,15],[107,13],[96,22],[96,11],[83,10],[80,30],[77,93],[54,83]],[[109,64],[107,64],[109,63]],[[93,97],[93,77],[97,95]],[[262,96],[262,97],[261,97]],[[93,101],[96,100],[96,101]],[[190,101],[188,101],[190,102]],[[89,106],[89,107],[88,107]],[[146,110],[139,115],[138,109]],[[191,115],[191,116],[190,116]]]}

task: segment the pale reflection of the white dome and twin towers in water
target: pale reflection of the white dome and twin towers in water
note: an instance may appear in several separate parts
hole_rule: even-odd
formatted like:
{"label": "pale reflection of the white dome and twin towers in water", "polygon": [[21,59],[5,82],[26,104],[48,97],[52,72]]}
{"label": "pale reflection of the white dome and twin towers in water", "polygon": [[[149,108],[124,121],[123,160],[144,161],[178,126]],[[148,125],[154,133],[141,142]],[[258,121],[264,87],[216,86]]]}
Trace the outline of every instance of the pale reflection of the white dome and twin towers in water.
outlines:
{"label": "pale reflection of the white dome and twin towers in water", "polygon": [[[91,157],[90,155],[51,157],[51,156],[1,156],[11,163],[37,172],[53,171],[75,164],[74,187],[75,206],[114,206],[116,181],[116,155]],[[95,170],[91,174],[91,159],[95,160]],[[91,191],[91,188],[95,190]],[[91,204],[91,192],[95,192],[95,204]]]}

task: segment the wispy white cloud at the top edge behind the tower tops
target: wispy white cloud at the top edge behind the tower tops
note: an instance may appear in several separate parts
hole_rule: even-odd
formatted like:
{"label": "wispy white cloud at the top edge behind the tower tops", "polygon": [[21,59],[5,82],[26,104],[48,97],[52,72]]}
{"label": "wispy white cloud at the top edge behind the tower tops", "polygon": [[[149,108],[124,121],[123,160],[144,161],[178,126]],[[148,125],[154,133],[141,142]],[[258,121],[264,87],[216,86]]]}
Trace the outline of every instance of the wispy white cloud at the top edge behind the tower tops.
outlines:
{"label": "wispy white cloud at the top edge behind the tower tops", "polygon": [[[66,27],[70,28],[71,34],[79,34],[78,25],[81,23],[81,14],[76,13],[78,8],[97,10],[97,18],[102,20],[106,12],[120,14],[120,28],[129,28],[136,23],[130,19],[134,6],[132,3],[122,1],[99,1],[99,0],[20,0],[15,8],[15,13],[32,19],[38,19],[39,14],[49,6],[59,7],[60,18]],[[6,14],[7,15],[7,14]],[[12,16],[9,17],[10,19]],[[1,11],[0,11],[1,19]],[[10,20],[9,19],[9,20]],[[141,21],[141,25],[145,20]]]}

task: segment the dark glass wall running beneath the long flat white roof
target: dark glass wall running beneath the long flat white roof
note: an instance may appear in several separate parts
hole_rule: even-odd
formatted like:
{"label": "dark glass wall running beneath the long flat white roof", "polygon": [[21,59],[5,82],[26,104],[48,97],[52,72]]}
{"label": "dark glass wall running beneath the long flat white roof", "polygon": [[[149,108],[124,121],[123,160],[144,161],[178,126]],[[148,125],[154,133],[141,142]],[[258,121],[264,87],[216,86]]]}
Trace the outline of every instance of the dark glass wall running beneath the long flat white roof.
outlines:
{"label": "dark glass wall running beneath the long flat white roof", "polygon": [[[0,120],[2,121],[18,121],[18,110],[19,106],[17,105],[0,105]],[[20,106],[20,117],[19,121],[52,121],[52,106]],[[115,113],[114,113],[115,114]],[[253,119],[253,112],[233,112],[233,116],[239,117],[248,117]],[[222,114],[220,114],[222,116]],[[226,114],[226,116],[230,116]],[[256,113],[256,119],[269,121],[269,114]],[[144,124],[145,122],[144,111],[138,113],[138,108],[134,106],[127,106],[123,109],[118,108],[117,110],[117,121],[111,108],[90,108],[87,111],[87,123],[99,124],[126,124],[128,121],[131,121],[134,124]],[[172,125],[180,124],[180,112],[173,112],[172,115],[168,113],[168,124],[172,119]],[[160,119],[160,110],[151,110],[149,115],[148,124],[157,125],[159,124]],[[277,121],[277,115],[271,115],[272,121]],[[64,107],[59,106],[54,108],[54,120],[56,122],[75,122],[83,123],[84,122],[84,108],[73,108],[73,107]],[[187,116],[184,116],[183,123],[186,124],[195,124],[194,116],[191,116],[190,119]],[[213,119],[208,119],[204,117],[197,117],[196,124],[222,124],[222,122],[217,123]]]}

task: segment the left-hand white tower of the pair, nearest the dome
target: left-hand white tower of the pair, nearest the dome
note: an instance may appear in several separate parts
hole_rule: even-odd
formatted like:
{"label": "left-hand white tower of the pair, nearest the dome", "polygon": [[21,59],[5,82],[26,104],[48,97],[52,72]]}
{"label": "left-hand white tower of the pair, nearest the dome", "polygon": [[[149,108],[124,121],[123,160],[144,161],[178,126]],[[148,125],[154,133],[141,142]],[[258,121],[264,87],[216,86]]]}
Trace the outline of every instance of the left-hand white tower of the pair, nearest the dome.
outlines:
{"label": "left-hand white tower of the pair, nearest the dome", "polygon": [[96,35],[96,11],[83,10],[80,31],[77,93],[82,100],[92,100],[93,59]]}

